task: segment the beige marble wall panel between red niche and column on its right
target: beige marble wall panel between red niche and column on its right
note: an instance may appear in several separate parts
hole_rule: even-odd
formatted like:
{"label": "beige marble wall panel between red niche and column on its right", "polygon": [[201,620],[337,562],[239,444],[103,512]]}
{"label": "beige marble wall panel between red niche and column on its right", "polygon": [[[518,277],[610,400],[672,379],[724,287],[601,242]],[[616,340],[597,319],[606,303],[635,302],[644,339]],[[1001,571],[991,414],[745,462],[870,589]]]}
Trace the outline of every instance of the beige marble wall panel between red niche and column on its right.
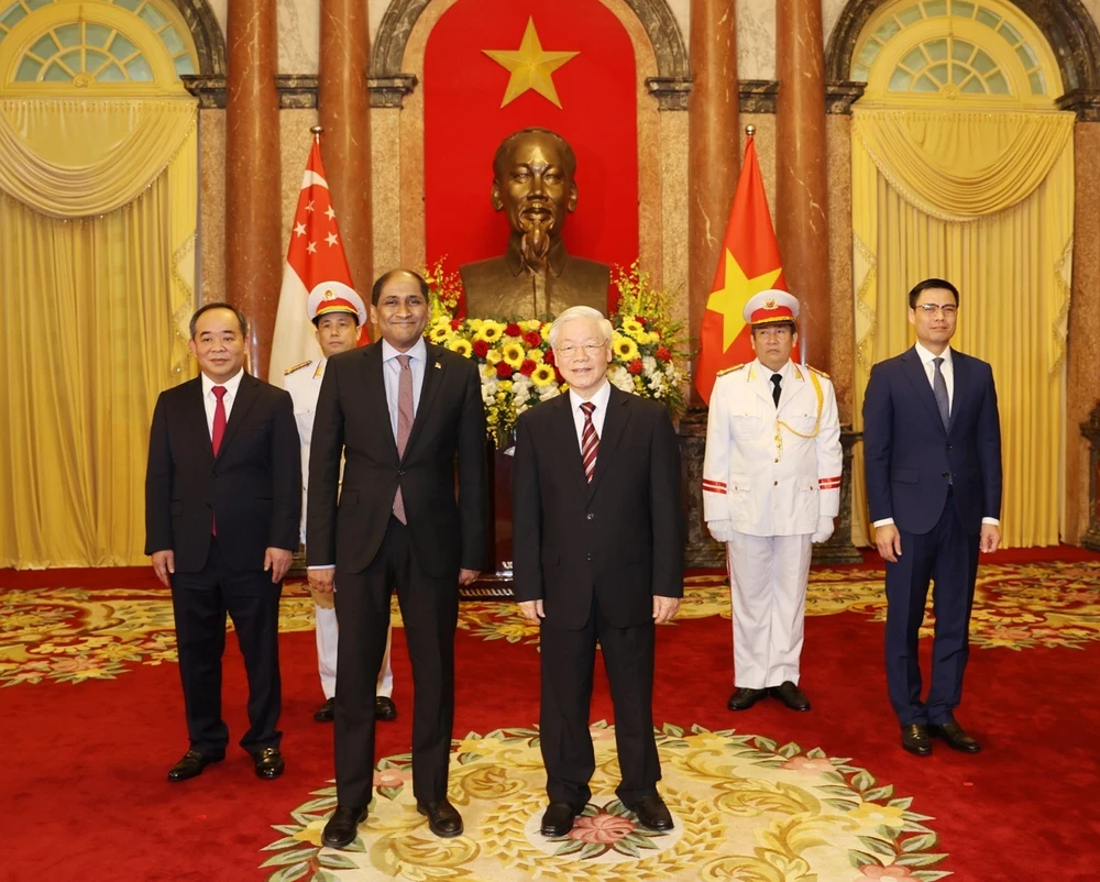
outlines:
{"label": "beige marble wall panel between red niche and column on its right", "polygon": [[[688,114],[661,113],[661,254],[675,318],[688,320]],[[690,328],[689,333],[697,333]]]}

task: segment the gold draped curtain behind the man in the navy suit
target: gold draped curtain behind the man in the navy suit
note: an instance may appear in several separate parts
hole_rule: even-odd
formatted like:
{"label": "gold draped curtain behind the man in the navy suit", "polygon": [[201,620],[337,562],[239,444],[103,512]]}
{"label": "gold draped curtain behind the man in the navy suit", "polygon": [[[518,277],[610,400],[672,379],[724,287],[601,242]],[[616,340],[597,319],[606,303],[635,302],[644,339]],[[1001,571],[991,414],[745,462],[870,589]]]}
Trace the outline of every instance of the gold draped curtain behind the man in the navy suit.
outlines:
{"label": "gold draped curtain behind the man in the navy suit", "polygon": [[[960,291],[960,351],[993,367],[1001,412],[1001,531],[1050,545],[1064,523],[1066,317],[1074,223],[1072,113],[853,113],[855,412],[871,366],[913,345],[909,289]],[[853,539],[870,544],[862,445]]]}

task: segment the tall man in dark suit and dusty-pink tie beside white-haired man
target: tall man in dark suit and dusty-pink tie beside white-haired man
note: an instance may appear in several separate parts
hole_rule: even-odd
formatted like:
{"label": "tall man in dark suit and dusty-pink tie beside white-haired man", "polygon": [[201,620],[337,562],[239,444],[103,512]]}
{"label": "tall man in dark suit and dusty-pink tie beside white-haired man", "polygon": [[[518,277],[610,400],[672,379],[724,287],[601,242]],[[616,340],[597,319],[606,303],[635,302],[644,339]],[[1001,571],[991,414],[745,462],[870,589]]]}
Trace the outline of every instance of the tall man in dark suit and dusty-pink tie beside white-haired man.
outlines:
{"label": "tall man in dark suit and dusty-pink tie beside white-haired man", "polygon": [[[354,841],[371,802],[374,684],[395,587],[413,663],[417,809],[437,836],[462,834],[462,818],[447,798],[454,629],[459,585],[477,577],[487,547],[485,410],[476,366],[426,343],[428,286],[416,273],[382,276],[371,318],[381,341],[329,360],[309,453],[309,584],[322,593],[336,589],[340,622],[338,806],[322,834],[330,848]],[[338,505],[341,455],[346,464]]]}

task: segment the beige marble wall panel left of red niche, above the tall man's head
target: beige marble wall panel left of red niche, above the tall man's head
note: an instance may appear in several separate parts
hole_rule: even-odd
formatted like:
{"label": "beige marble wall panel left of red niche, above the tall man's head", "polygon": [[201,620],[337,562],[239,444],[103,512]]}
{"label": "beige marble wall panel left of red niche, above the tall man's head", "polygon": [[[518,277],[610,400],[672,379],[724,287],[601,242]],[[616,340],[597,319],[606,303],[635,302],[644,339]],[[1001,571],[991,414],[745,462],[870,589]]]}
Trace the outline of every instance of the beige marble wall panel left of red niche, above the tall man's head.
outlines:
{"label": "beige marble wall panel left of red niche, above the tall man's head", "polygon": [[[371,211],[375,278],[402,263],[402,110],[371,111]],[[421,190],[424,188],[421,187]],[[410,199],[420,190],[409,192]],[[414,267],[416,268],[416,267]]]}

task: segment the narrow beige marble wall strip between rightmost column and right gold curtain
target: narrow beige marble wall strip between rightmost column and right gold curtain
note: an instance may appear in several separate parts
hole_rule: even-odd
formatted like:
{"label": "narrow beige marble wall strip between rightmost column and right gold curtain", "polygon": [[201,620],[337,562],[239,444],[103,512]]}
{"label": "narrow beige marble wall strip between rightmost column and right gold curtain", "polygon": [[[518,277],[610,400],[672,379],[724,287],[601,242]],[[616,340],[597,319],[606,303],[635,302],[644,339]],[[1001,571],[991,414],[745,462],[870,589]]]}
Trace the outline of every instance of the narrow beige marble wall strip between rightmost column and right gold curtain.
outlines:
{"label": "narrow beige marble wall strip between rightmost column and right gold curtain", "polygon": [[829,374],[840,422],[851,422],[855,357],[851,289],[851,117],[825,117],[828,180]]}

